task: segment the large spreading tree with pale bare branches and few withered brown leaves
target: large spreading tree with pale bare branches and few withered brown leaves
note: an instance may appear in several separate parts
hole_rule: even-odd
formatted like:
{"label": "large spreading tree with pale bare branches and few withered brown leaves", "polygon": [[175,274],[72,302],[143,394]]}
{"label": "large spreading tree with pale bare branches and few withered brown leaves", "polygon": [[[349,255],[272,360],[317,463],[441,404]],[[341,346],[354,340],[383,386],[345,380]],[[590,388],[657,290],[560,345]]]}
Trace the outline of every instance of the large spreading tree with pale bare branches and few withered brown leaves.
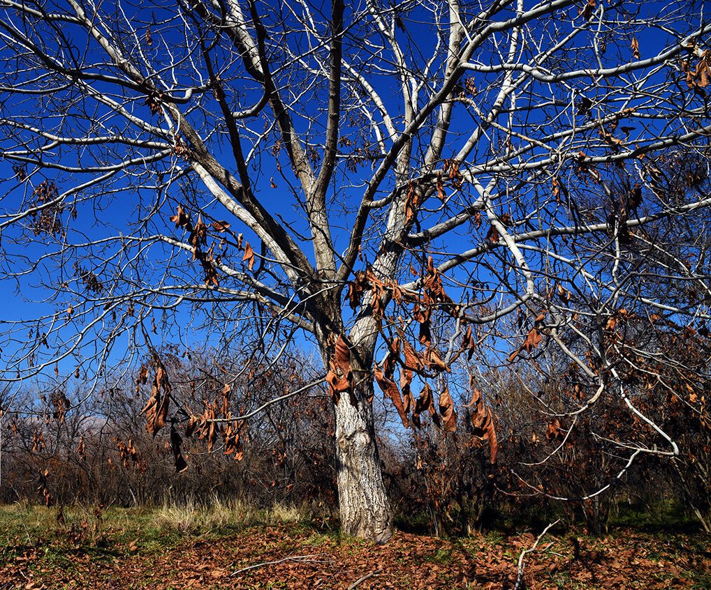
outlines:
{"label": "large spreading tree with pale bare branches and few withered brown leaves", "polygon": [[[387,540],[374,381],[405,425],[429,410],[451,431],[449,364],[506,358],[502,318],[510,362],[560,346],[624,396],[603,345],[621,298],[707,317],[705,297],[646,296],[634,268],[642,248],[711,293],[705,251],[654,237],[711,202],[704,177],[656,190],[655,154],[706,168],[702,5],[0,0],[3,272],[42,300],[4,322],[6,396],[53,367],[91,378],[159,327],[255,335],[264,359],[306,334],[343,527]],[[173,412],[157,354],[151,370],[151,430],[234,437],[242,417]]]}

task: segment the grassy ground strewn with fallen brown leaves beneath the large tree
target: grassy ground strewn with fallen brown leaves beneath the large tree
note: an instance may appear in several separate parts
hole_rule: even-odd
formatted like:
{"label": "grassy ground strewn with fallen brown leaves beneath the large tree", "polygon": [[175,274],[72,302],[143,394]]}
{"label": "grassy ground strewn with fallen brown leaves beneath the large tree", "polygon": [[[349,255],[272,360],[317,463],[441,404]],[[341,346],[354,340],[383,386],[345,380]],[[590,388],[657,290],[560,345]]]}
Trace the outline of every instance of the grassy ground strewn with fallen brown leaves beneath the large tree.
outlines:
{"label": "grassy ground strewn with fallen brown leaves beneath the large tree", "polygon": [[[518,556],[535,541],[531,532],[396,532],[377,547],[284,515],[236,527],[146,510],[57,521],[56,510],[0,508],[0,589],[512,589]],[[561,528],[526,556],[525,588],[711,588],[709,537]]]}

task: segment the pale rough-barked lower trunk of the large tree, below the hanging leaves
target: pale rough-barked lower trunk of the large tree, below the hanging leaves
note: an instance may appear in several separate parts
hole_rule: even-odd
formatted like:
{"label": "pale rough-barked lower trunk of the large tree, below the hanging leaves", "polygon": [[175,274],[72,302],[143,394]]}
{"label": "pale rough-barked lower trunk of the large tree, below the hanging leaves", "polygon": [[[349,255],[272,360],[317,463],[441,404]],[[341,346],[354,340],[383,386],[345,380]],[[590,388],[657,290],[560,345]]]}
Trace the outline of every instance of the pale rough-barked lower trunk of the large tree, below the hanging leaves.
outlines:
{"label": "pale rough-barked lower trunk of the large tree, below the hanging leaves", "polygon": [[392,536],[392,513],[375,439],[373,379],[356,378],[355,405],[341,395],[336,412],[336,473],[343,532],[376,543]]}

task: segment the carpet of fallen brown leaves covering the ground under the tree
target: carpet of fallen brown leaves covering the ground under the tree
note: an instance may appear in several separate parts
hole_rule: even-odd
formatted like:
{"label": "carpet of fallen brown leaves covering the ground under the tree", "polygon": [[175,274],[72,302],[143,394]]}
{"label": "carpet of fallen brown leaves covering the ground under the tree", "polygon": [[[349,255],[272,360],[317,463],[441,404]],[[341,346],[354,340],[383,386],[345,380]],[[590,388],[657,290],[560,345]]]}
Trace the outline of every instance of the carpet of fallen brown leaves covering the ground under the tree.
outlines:
{"label": "carpet of fallen brown leaves covering the ground under the tree", "polygon": [[[0,562],[0,581],[6,584],[2,587],[35,589],[346,590],[380,570],[358,590],[500,590],[513,587],[518,555],[533,542],[530,533],[442,540],[396,532],[387,545],[374,546],[282,525],[205,540],[184,537],[178,546],[157,552],[146,550],[140,540],[125,540],[112,547],[111,559],[74,551],[70,568],[64,560],[46,557],[53,555],[46,546],[18,545],[12,552],[16,557]],[[547,536],[526,559],[525,587],[700,587],[698,580],[706,579],[711,568],[711,554],[698,550],[702,545],[696,537],[665,535],[661,540],[629,531],[604,539]],[[250,566],[256,567],[230,576]]]}

